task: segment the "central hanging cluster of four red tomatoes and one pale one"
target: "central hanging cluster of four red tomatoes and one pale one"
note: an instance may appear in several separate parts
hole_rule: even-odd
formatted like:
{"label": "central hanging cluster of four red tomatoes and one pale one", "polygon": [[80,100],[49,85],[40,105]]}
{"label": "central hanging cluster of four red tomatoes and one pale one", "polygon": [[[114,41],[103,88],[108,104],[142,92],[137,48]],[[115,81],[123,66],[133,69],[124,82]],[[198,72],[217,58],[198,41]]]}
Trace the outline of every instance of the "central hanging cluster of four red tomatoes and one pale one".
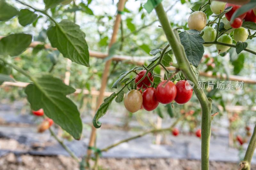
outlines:
{"label": "central hanging cluster of four red tomatoes and one pale one", "polygon": [[[141,71],[135,78],[138,83],[146,74],[146,70]],[[149,72],[148,78],[154,80],[154,76]],[[129,112],[137,112],[143,107],[147,111],[156,109],[159,103],[169,104],[174,100],[178,104],[187,103],[193,94],[193,89],[186,80],[180,80],[176,85],[169,80],[164,80],[157,87],[147,87],[151,83],[148,78],[144,78],[138,85],[137,90],[133,89],[126,93],[124,97],[124,106]],[[168,82],[167,82],[168,81]],[[146,86],[145,86],[146,85]],[[145,89],[142,93],[141,90]]]}

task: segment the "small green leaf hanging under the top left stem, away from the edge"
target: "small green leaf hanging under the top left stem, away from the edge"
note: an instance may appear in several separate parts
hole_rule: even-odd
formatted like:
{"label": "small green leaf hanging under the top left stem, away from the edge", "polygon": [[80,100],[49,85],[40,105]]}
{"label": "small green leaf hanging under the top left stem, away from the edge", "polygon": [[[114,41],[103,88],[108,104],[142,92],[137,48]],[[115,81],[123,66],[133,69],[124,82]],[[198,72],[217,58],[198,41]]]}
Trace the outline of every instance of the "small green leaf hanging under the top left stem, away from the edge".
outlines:
{"label": "small green leaf hanging under the top left stem, away from the edge", "polygon": [[18,17],[19,23],[22,26],[27,26],[31,24],[36,20],[36,18],[37,18],[37,15],[34,12],[29,11],[28,9],[20,10],[19,17]]}

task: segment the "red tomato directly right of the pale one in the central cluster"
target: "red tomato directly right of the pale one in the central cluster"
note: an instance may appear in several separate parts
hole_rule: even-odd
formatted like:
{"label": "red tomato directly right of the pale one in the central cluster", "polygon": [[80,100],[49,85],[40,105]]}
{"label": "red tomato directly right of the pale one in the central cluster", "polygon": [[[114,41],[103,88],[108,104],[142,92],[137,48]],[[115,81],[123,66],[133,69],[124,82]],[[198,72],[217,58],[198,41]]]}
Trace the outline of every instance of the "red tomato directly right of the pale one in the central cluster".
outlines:
{"label": "red tomato directly right of the pale one in the central cluster", "polygon": [[142,97],[142,106],[147,111],[152,111],[159,105],[159,101],[156,99],[156,89],[154,87],[149,87],[144,90]]}

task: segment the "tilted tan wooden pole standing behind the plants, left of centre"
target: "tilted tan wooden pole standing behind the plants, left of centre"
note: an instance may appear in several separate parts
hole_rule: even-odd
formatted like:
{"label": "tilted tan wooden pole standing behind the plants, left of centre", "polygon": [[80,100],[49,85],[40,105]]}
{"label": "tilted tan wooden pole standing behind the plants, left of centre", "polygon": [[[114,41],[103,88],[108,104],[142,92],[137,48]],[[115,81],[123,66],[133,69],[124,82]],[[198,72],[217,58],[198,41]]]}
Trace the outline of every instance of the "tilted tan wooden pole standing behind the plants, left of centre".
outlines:
{"label": "tilted tan wooden pole standing behind the plants, left of centre", "polygon": [[[113,33],[112,33],[112,38],[111,38],[111,41],[109,43],[108,49],[112,46],[112,44],[114,44],[116,42],[117,32],[118,32],[118,29],[119,29],[119,25],[121,23],[121,12],[124,10],[125,2],[126,2],[126,0],[119,0],[119,2],[118,2],[116,21],[115,21],[115,25],[114,25]],[[112,62],[112,60],[108,60],[106,62],[106,65],[105,65],[105,68],[104,68],[104,71],[103,71],[103,76],[102,76],[102,79],[101,79],[100,94],[98,96],[97,107],[96,107],[95,112],[100,107],[100,104],[103,102],[103,97],[104,97],[104,92],[105,92],[107,81],[108,81],[108,75],[109,75],[108,72],[109,72],[109,69],[110,69],[111,62]],[[92,150],[90,148],[92,148],[94,146],[95,139],[96,139],[96,128],[94,126],[92,126],[92,132],[91,132],[91,137],[90,137],[90,141],[89,141],[89,147],[87,149],[87,154],[86,154],[86,162],[88,162],[90,157],[91,157]]]}

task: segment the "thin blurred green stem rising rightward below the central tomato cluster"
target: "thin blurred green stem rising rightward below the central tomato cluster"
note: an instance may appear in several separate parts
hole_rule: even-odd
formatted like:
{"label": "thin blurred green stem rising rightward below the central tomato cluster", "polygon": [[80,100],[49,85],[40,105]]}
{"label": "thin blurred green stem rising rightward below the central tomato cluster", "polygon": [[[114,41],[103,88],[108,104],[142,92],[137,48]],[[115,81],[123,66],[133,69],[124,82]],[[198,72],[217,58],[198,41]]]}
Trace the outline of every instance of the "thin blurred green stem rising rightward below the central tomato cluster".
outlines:
{"label": "thin blurred green stem rising rightward below the central tomato cluster", "polygon": [[177,124],[178,122],[180,122],[183,118],[184,118],[184,116],[180,116],[180,118],[177,119],[177,120],[172,124],[172,126],[169,127],[169,128],[149,130],[149,131],[144,132],[144,133],[142,133],[142,134],[140,134],[140,135],[136,135],[136,136],[134,136],[134,137],[129,137],[129,138],[124,139],[124,140],[122,140],[122,141],[120,141],[120,142],[117,142],[116,144],[112,144],[112,145],[110,145],[110,146],[108,146],[108,147],[106,147],[106,148],[104,148],[104,149],[101,149],[100,151],[101,151],[101,152],[107,152],[109,149],[111,149],[111,148],[113,148],[113,147],[115,147],[115,146],[117,146],[117,145],[119,145],[119,144],[122,144],[122,143],[124,143],[124,142],[128,142],[128,141],[130,141],[130,140],[133,140],[133,139],[136,139],[136,138],[145,136],[145,135],[147,135],[147,134],[149,134],[149,133],[159,133],[159,132],[164,132],[164,131],[171,131],[172,128],[174,128],[174,127],[176,126],[176,124]]}

